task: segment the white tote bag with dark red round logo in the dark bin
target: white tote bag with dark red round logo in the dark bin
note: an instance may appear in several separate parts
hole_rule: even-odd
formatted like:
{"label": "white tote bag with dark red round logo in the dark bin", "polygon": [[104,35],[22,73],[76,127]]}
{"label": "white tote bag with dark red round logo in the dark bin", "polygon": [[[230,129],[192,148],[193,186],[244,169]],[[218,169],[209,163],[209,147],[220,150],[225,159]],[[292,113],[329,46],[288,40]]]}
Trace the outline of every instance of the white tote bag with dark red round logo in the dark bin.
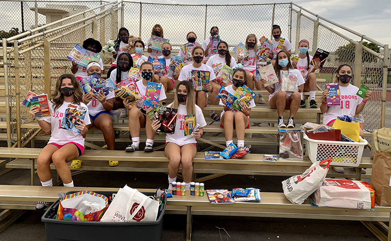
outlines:
{"label": "white tote bag with dark red round logo in the dark bin", "polygon": [[156,221],[159,202],[127,185],[120,188],[101,222]]}

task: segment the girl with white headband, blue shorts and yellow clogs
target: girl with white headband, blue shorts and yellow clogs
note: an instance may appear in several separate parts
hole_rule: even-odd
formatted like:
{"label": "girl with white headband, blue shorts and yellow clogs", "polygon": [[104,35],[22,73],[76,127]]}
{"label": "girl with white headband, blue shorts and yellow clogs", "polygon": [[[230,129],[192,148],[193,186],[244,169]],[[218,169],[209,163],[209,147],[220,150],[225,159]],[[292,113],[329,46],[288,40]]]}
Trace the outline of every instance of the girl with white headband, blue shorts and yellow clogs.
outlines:
{"label": "girl with white headband, blue shorts and yellow clogs", "polygon": [[[87,65],[88,75],[101,74],[99,64],[91,62]],[[110,113],[114,104],[114,91],[110,91],[106,96],[103,91],[95,95],[90,92],[83,96],[83,103],[87,105],[91,124],[87,126],[88,130],[96,127],[103,132],[107,149],[114,150],[115,139],[113,130],[113,117]],[[109,166],[117,166],[118,161],[109,161]]]}

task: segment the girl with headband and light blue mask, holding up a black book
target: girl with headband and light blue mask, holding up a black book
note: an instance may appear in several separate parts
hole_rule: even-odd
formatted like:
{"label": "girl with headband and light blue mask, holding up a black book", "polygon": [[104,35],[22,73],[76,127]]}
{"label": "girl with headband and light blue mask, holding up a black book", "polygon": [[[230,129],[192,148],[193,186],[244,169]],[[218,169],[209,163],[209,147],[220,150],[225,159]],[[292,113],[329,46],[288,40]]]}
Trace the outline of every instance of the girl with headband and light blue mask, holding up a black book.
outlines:
{"label": "girl with headband and light blue mask, holding up a black book", "polygon": [[[299,53],[296,54],[296,57],[299,57],[298,61],[293,61],[292,66],[295,69],[298,69],[306,81],[304,84],[303,91],[310,92],[310,102],[309,106],[311,108],[318,108],[318,104],[315,101],[315,93],[316,93],[316,75],[315,70],[319,69],[320,63],[317,62],[315,67],[313,65],[310,65],[312,61],[312,56],[308,53],[308,46],[309,43],[307,40],[302,40],[299,42]],[[307,107],[306,102],[303,100],[303,92],[300,93],[301,95],[301,101],[300,101],[300,107],[305,108]]]}

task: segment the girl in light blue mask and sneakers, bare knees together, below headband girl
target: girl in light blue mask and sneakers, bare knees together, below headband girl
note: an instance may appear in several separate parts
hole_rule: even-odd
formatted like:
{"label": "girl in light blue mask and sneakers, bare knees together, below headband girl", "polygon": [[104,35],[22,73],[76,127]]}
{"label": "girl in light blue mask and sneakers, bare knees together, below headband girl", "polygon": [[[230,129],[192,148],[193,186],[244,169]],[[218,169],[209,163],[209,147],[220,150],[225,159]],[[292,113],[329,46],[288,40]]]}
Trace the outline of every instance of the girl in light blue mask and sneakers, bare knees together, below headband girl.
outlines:
{"label": "girl in light blue mask and sneakers, bare knees together, below headband girl", "polygon": [[[303,75],[289,62],[289,53],[286,50],[281,50],[277,53],[278,63],[274,66],[274,71],[277,75],[277,78],[280,80],[278,83],[266,86],[265,88],[270,93],[269,96],[269,105],[273,109],[277,109],[278,113],[278,127],[279,128],[294,128],[294,117],[299,110],[300,106],[300,93],[303,92],[303,85],[305,83]],[[282,71],[288,71],[288,78],[294,78],[297,80],[297,86],[299,92],[285,92],[281,91],[282,83]],[[266,83],[265,79],[261,79],[262,84]],[[296,85],[296,84],[295,84]],[[284,109],[290,110],[289,119],[287,125],[284,123]]]}

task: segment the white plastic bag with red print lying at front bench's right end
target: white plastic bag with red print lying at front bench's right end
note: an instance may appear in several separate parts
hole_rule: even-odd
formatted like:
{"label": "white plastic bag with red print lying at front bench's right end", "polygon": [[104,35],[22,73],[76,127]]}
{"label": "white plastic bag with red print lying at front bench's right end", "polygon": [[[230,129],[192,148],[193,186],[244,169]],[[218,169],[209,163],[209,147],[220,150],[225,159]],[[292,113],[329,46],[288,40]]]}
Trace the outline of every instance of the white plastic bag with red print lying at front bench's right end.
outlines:
{"label": "white plastic bag with red print lying at front bench's right end", "polygon": [[371,209],[369,189],[356,180],[325,179],[312,197],[322,207]]}

